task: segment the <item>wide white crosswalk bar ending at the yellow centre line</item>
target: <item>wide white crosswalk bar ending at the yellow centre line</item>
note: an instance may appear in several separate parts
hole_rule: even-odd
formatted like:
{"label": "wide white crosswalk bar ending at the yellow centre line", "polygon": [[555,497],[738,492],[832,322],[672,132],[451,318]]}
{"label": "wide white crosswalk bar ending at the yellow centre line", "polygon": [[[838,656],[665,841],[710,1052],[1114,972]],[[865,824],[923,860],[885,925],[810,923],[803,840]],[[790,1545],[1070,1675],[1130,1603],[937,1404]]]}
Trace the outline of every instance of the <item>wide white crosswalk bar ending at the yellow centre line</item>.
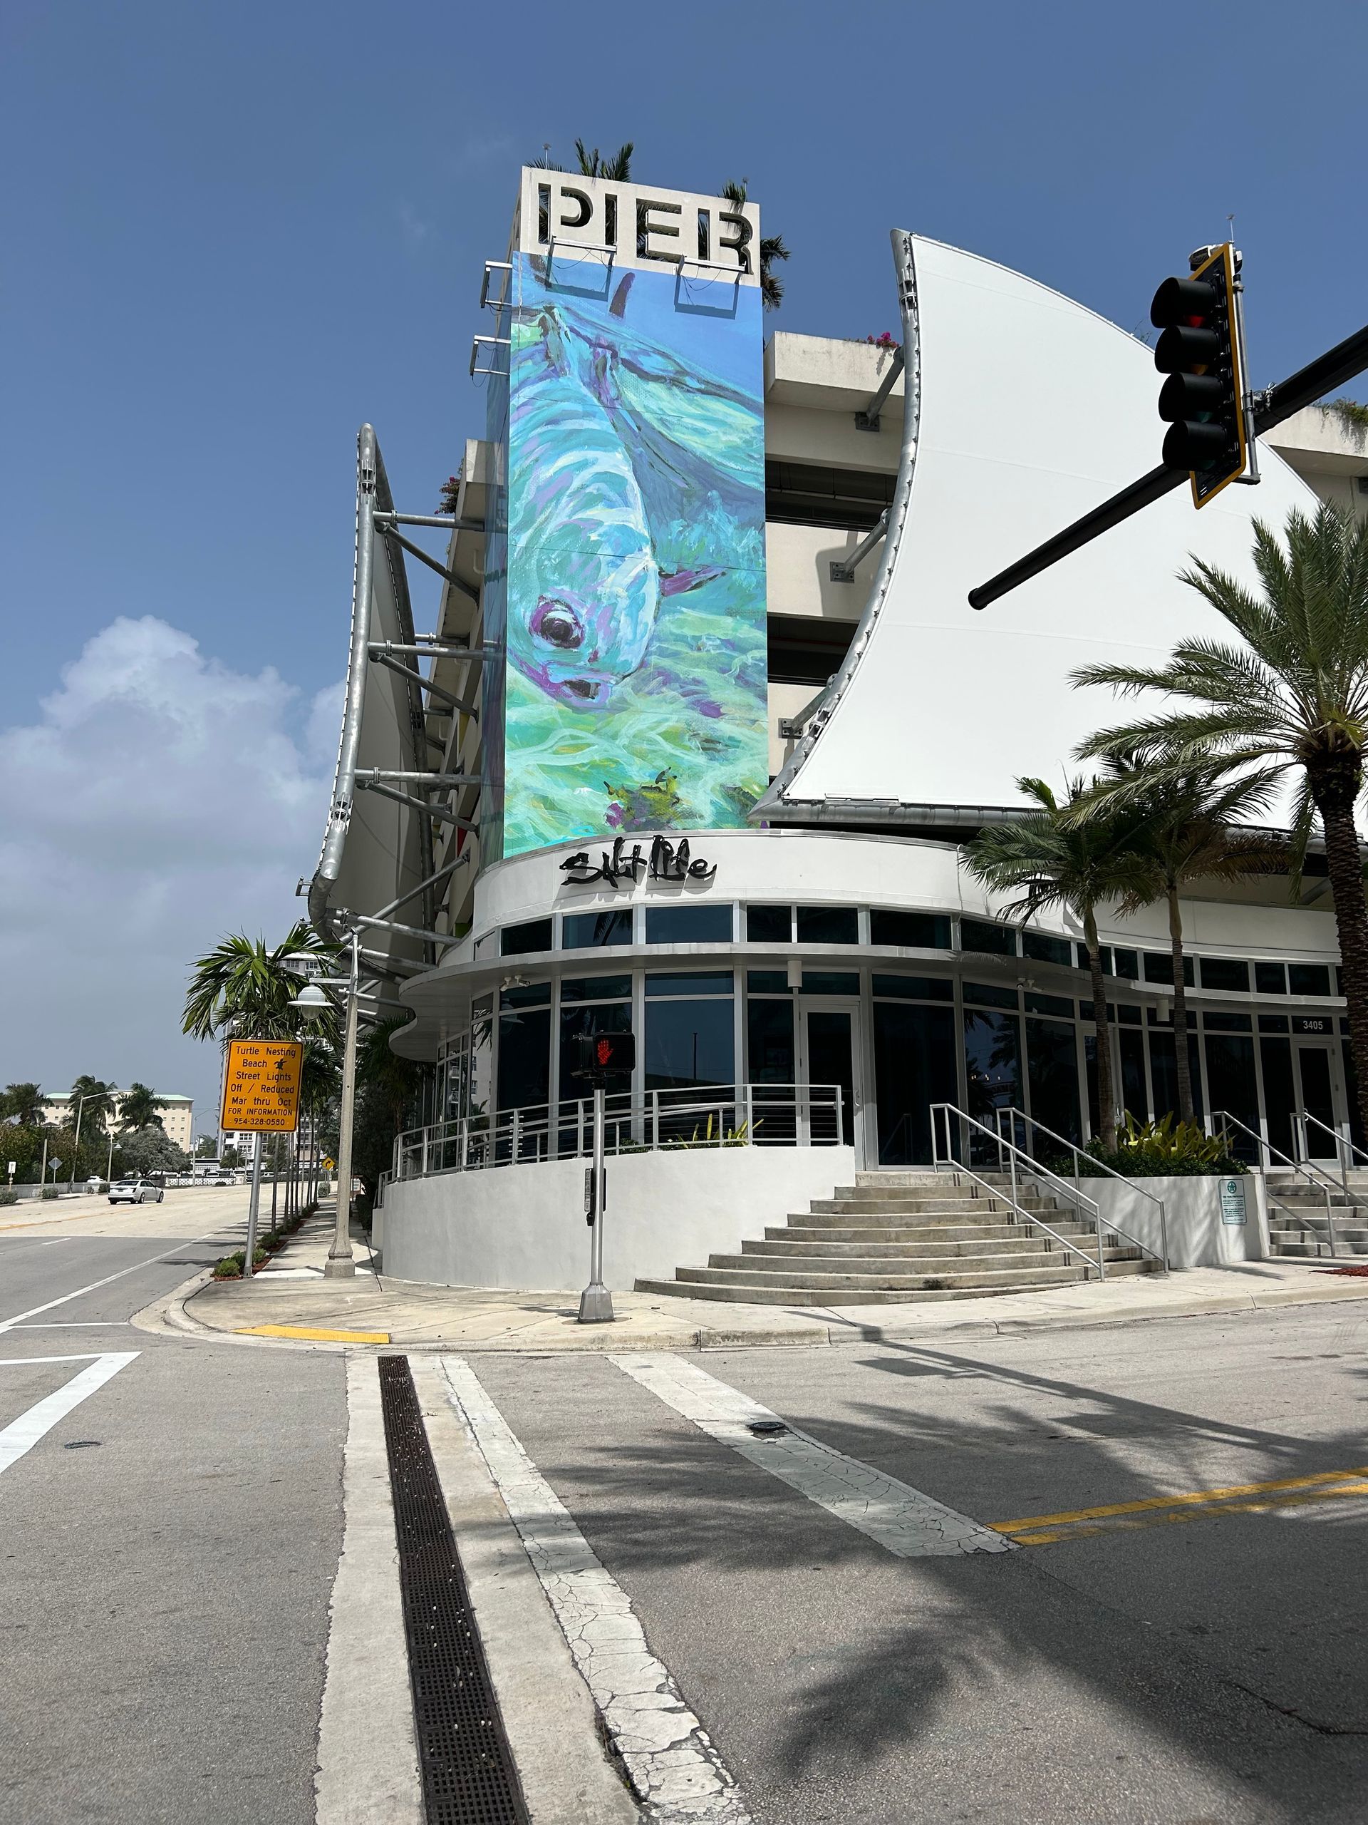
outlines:
{"label": "wide white crosswalk bar ending at the yellow centre line", "polygon": [[[981,1528],[910,1484],[848,1458],[788,1425],[750,1394],[680,1356],[611,1356],[624,1374],[722,1445],[768,1471],[846,1526],[866,1533],[899,1559],[947,1559],[1010,1551],[1012,1542]],[[757,1434],[755,1425],[782,1431]]]}

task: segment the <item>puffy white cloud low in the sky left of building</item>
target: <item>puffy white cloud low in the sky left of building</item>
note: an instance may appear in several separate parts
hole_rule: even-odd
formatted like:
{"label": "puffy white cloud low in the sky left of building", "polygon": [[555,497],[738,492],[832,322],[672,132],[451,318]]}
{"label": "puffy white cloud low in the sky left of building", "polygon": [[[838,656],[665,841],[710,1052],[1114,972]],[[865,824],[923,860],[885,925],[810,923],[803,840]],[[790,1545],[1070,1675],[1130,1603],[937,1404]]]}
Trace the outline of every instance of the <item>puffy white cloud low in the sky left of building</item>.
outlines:
{"label": "puffy white cloud low in the sky left of building", "polygon": [[213,1048],[181,1037],[188,964],[303,912],[341,686],[299,699],[270,666],[120,617],[0,732],[0,1082],[139,1077],[212,1126]]}

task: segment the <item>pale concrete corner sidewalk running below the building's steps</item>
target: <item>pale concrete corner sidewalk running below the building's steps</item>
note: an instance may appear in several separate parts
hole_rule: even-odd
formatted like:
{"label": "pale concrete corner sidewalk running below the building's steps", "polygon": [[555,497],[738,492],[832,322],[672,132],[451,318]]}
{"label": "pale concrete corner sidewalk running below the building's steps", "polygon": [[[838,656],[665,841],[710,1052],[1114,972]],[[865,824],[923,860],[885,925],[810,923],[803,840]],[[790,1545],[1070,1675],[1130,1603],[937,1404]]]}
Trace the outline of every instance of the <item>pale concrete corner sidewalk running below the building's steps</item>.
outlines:
{"label": "pale concrete corner sidewalk running below the building's steps", "polygon": [[1124,1325],[1273,1305],[1368,1299],[1368,1278],[1341,1279],[1326,1263],[1249,1261],[1182,1274],[1127,1274],[1047,1292],[938,1299],[925,1305],[722,1305],[615,1292],[613,1325],[580,1325],[578,1290],[498,1292],[385,1279],[356,1236],[354,1279],[325,1279],[330,1215],[306,1223],[252,1281],[197,1276],[139,1312],[148,1330],[195,1330],[290,1343],[401,1345],[460,1350],[688,1350],[777,1343],[861,1343],[910,1338],[1010,1336],[1078,1325]]}

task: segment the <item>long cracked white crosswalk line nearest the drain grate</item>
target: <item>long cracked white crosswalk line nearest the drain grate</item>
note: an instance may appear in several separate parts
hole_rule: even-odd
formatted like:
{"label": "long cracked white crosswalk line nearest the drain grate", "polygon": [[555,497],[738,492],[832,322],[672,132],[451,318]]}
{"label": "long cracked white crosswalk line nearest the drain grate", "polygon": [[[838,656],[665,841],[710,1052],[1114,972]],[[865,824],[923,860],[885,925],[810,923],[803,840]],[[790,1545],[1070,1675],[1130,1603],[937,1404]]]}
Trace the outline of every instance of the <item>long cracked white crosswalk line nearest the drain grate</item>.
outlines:
{"label": "long cracked white crosswalk line nearest the drain grate", "polygon": [[637,1798],[658,1825],[750,1825],[737,1783],[651,1653],[627,1593],[461,1356],[441,1358],[452,1405],[498,1484],[575,1664],[604,1714]]}

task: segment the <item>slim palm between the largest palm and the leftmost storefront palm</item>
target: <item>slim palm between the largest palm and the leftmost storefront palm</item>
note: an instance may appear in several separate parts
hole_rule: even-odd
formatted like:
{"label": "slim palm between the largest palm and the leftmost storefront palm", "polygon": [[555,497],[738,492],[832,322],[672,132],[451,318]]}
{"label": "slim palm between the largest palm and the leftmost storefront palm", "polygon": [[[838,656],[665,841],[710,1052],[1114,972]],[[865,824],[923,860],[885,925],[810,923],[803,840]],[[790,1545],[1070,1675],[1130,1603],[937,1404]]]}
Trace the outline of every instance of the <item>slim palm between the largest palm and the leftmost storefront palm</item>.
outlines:
{"label": "slim palm between the largest palm and the leftmost storefront palm", "polygon": [[1178,896],[1191,881],[1244,881],[1288,865],[1288,845],[1280,838],[1242,829],[1244,819],[1264,810],[1270,792],[1266,779],[1222,777],[1220,765],[1155,779],[1145,754],[1120,752],[1104,756],[1102,777],[1069,814],[1082,821],[1107,807],[1129,807],[1136,814],[1136,843],[1147,861],[1147,878],[1122,896],[1118,912],[1129,916],[1156,900],[1167,907],[1178,1117],[1184,1122],[1195,1119],[1195,1106]]}

